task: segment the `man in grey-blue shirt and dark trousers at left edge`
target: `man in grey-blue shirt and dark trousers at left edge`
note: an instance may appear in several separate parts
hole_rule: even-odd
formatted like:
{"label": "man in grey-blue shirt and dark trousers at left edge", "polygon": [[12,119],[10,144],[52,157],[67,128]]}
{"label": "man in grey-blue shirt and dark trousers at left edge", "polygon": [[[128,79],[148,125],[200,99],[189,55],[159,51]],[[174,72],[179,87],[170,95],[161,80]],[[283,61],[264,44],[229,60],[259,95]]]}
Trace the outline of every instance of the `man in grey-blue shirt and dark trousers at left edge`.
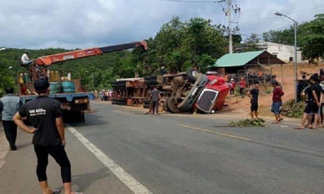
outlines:
{"label": "man in grey-blue shirt and dark trousers at left edge", "polygon": [[10,150],[17,150],[17,125],[12,120],[22,103],[19,97],[13,95],[13,89],[11,87],[5,89],[5,94],[6,96],[0,98],[2,125],[5,137],[9,142]]}

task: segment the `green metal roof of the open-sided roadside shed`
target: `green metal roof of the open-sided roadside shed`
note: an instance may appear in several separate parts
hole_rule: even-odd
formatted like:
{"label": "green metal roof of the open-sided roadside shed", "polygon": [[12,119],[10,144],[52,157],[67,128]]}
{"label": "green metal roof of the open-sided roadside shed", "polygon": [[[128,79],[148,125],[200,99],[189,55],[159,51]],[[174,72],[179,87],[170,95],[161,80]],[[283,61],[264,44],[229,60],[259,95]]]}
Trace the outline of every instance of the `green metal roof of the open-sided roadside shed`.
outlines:
{"label": "green metal roof of the open-sided roadside shed", "polygon": [[243,66],[258,57],[265,50],[262,51],[252,51],[252,52],[244,52],[244,53],[232,53],[226,54],[219,58],[213,66],[209,67],[236,67]]}

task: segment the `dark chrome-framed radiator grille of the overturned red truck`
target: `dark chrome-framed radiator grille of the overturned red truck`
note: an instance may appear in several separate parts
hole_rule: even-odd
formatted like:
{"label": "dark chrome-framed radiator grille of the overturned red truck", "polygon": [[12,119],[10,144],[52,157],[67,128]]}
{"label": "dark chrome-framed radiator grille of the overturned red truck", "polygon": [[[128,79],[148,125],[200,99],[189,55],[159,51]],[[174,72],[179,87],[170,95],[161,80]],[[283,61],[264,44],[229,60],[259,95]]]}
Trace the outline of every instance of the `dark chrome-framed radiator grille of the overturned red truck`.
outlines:
{"label": "dark chrome-framed radiator grille of the overturned red truck", "polygon": [[198,97],[196,107],[198,110],[210,113],[214,108],[215,100],[219,92],[211,89],[204,89]]}

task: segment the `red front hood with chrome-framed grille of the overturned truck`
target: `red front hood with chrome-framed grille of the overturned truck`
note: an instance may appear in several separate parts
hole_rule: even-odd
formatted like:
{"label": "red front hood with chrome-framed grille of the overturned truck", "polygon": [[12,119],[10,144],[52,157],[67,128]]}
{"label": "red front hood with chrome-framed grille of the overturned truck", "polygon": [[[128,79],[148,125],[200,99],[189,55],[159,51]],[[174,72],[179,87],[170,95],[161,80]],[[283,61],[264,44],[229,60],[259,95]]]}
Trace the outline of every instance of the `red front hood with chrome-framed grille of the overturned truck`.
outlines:
{"label": "red front hood with chrome-framed grille of the overturned truck", "polygon": [[208,83],[200,93],[196,108],[204,113],[211,113],[220,109],[231,90],[231,85],[225,82],[223,77],[217,76],[217,72],[207,72]]}

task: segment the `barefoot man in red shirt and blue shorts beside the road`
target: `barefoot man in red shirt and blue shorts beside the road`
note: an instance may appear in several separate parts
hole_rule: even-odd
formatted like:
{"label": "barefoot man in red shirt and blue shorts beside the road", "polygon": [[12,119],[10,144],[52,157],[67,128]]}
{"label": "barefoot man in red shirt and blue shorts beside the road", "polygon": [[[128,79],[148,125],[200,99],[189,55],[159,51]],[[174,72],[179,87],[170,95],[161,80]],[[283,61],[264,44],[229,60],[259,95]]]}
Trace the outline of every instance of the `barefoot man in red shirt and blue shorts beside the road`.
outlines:
{"label": "barefoot man in red shirt and blue shorts beside the road", "polygon": [[279,83],[277,81],[273,81],[272,87],[274,87],[273,95],[272,95],[272,106],[271,112],[275,114],[276,120],[274,123],[279,123],[284,118],[280,115],[282,99],[281,97],[285,95],[284,91],[281,89]]}

